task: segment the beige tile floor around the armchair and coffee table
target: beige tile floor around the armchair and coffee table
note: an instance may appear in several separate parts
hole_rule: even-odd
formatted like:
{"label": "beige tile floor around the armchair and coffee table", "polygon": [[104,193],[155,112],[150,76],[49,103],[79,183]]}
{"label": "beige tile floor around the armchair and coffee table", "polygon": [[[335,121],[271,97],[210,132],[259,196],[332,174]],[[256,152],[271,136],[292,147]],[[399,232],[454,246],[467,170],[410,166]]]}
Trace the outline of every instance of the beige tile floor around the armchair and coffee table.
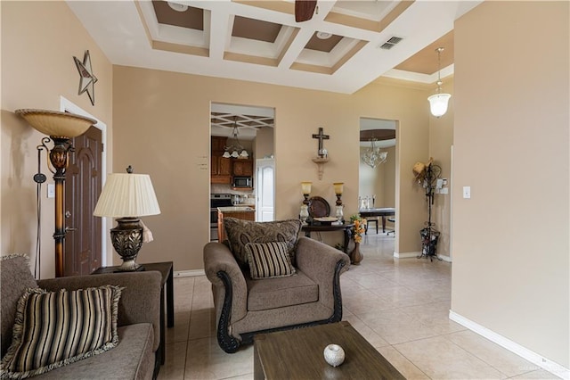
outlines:
{"label": "beige tile floor around the armchair and coffee table", "polygon": [[[393,258],[394,237],[365,236],[364,260],[341,277],[343,319],[409,379],[556,379],[448,318],[452,264]],[[159,379],[251,379],[253,347],[216,343],[206,277],[175,279],[175,326]]]}

